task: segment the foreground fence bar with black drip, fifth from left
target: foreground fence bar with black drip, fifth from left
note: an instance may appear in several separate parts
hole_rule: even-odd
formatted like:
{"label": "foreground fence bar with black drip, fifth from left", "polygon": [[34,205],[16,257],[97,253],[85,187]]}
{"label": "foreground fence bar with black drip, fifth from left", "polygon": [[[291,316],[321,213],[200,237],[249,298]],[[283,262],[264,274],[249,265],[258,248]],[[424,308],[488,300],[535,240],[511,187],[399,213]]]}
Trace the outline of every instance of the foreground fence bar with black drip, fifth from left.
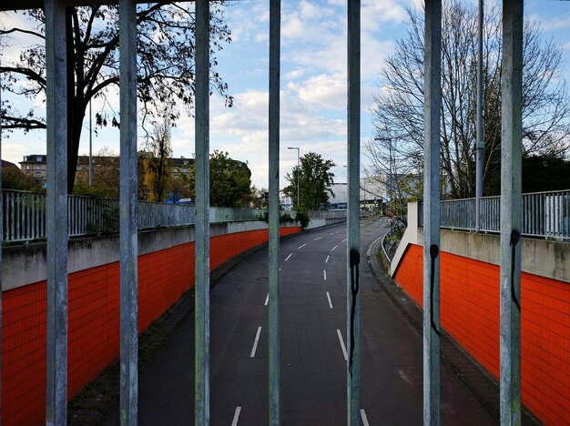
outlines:
{"label": "foreground fence bar with black drip, fifth from left", "polygon": [[348,1],[347,424],[361,423],[361,2]]}

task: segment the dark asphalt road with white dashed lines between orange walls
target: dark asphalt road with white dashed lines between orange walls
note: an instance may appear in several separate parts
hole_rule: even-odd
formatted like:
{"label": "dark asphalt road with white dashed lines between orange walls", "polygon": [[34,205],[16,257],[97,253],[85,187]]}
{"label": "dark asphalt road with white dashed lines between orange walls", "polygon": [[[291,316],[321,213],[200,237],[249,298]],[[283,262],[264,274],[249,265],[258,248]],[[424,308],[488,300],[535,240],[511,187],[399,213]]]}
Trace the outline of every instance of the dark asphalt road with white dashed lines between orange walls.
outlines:
{"label": "dark asphalt road with white dashed lines between orange walls", "polygon": [[[422,424],[422,336],[366,263],[385,223],[361,224],[363,424]],[[260,249],[211,291],[211,424],[268,424],[268,252]],[[346,226],[280,243],[281,423],[346,424]],[[194,321],[141,373],[139,424],[193,424]],[[496,421],[442,366],[442,423]],[[109,419],[117,424],[117,419]]]}

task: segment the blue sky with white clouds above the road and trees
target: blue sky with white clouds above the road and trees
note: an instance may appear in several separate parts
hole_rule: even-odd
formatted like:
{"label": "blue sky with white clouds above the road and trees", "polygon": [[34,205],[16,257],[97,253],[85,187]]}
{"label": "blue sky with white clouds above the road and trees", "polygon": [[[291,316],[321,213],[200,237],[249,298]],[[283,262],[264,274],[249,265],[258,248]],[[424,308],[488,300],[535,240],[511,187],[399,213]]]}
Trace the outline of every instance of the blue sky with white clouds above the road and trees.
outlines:
{"label": "blue sky with white clouds above the road and trees", "polygon": [[[466,0],[467,1],[467,0]],[[469,0],[476,4],[476,0]],[[403,35],[405,8],[417,0],[361,1],[361,138],[370,139],[372,96],[378,92],[378,71]],[[495,1],[496,3],[496,1]],[[527,0],[524,13],[541,23],[544,36],[564,46],[562,76],[570,81],[570,2]],[[346,0],[281,0],[281,133],[280,186],[300,154],[314,151],[331,158],[335,180],[346,181]],[[230,157],[248,161],[252,181],[267,187],[268,176],[268,64],[269,1],[230,2],[225,14],[232,43],[218,54],[219,72],[235,97],[232,108],[217,95],[210,100],[210,149],[229,152]],[[8,25],[19,16],[0,15]],[[11,24],[10,24],[11,25]],[[5,57],[16,55],[26,40],[12,40]],[[38,100],[36,106],[42,106]],[[118,110],[118,101],[111,101]],[[28,104],[21,104],[26,110]],[[94,103],[94,108],[99,107]],[[173,131],[175,156],[193,157],[194,121],[183,117]],[[86,119],[86,127],[87,127]],[[142,132],[141,132],[142,134]],[[118,152],[117,129],[104,129],[94,136],[94,151],[109,147]],[[84,129],[80,154],[87,154],[88,131]],[[15,132],[4,138],[2,157],[18,162],[27,154],[46,152],[43,131],[24,135]],[[363,154],[363,153],[362,153]],[[366,158],[362,155],[362,162]]]}

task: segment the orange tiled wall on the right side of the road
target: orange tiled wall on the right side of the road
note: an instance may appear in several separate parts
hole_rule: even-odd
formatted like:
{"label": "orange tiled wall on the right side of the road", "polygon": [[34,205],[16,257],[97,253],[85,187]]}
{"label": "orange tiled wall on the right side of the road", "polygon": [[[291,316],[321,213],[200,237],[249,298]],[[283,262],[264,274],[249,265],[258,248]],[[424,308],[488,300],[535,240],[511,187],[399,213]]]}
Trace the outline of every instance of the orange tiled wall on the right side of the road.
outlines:
{"label": "orange tiled wall on the right side of the road", "polygon": [[[499,267],[442,252],[441,320],[495,379],[500,374]],[[422,247],[406,251],[395,280],[422,306]],[[570,284],[521,276],[524,405],[546,424],[570,423]]]}

